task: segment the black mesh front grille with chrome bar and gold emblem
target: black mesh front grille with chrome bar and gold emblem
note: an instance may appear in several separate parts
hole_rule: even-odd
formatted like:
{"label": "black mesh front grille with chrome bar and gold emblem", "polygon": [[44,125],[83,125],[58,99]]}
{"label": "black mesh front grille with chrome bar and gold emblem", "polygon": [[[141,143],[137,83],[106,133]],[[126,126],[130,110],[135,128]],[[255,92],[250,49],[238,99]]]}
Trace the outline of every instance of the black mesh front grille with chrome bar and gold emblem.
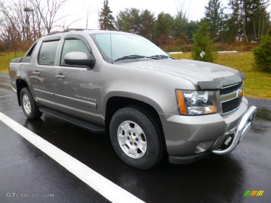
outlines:
{"label": "black mesh front grille with chrome bar and gold emblem", "polygon": [[237,109],[243,100],[243,82],[223,87],[220,91],[222,114]]}

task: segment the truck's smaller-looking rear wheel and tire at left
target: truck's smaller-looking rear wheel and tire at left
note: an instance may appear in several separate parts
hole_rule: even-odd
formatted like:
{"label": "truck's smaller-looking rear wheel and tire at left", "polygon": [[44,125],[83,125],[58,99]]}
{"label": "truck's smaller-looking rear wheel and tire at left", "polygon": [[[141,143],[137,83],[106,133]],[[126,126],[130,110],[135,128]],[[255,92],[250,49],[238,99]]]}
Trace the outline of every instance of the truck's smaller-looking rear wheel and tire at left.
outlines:
{"label": "truck's smaller-looking rear wheel and tire at left", "polygon": [[28,119],[38,119],[42,116],[42,112],[38,110],[38,106],[28,88],[24,87],[20,93],[22,110]]}

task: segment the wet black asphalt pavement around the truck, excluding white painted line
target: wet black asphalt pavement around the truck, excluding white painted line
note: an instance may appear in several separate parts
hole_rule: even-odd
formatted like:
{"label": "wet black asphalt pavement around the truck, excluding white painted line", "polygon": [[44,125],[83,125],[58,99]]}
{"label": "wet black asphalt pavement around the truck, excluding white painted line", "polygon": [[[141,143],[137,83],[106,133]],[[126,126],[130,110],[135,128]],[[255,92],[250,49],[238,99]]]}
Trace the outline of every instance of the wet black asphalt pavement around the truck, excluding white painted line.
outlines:
{"label": "wet black asphalt pavement around the truck, excluding white painted line", "polygon": [[[0,73],[0,112],[145,202],[270,202],[271,100],[248,100],[257,106],[254,125],[231,154],[211,154],[188,165],[164,161],[141,171],[125,165],[104,135],[46,114],[27,120],[8,75]],[[248,190],[264,192],[244,197]],[[7,197],[12,192],[54,197]],[[0,121],[2,202],[109,201]]]}

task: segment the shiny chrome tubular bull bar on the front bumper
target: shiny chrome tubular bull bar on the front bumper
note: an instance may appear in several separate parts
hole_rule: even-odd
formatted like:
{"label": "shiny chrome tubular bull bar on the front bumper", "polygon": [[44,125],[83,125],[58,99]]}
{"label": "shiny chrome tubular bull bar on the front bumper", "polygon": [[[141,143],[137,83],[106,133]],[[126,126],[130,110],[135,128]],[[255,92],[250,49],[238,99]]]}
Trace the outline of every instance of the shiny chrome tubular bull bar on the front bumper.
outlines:
{"label": "shiny chrome tubular bull bar on the front bumper", "polygon": [[231,144],[226,149],[212,150],[212,153],[224,155],[232,152],[252,126],[256,112],[257,108],[255,106],[251,106],[240,118],[233,133],[233,140],[231,141]]}

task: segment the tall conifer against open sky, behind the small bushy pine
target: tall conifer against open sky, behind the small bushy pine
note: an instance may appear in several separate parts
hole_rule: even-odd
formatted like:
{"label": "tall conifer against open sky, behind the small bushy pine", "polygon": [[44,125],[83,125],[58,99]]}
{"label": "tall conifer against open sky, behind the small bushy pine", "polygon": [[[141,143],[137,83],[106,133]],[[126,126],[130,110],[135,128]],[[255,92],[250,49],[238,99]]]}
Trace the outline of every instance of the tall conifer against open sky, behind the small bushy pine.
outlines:
{"label": "tall conifer against open sky, behind the small bushy pine", "polygon": [[220,40],[225,14],[220,0],[209,0],[205,6],[205,20],[209,24],[212,39]]}

